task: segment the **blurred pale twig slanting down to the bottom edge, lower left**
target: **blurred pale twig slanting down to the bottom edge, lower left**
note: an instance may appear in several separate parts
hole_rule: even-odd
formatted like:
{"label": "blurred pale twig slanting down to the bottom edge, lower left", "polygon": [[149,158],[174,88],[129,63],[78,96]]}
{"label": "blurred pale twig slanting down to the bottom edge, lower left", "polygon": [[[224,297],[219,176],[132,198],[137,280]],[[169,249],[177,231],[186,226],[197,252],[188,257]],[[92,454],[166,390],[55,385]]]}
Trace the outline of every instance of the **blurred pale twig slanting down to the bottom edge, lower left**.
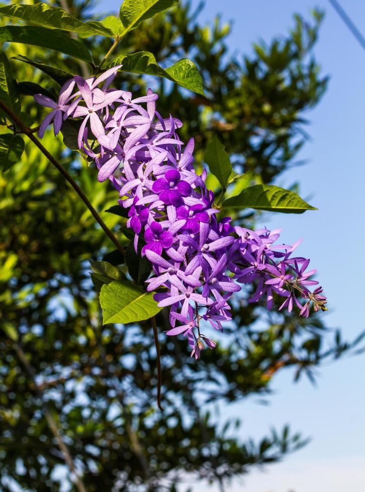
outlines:
{"label": "blurred pale twig slanting down to the bottom edge, lower left", "polygon": [[22,361],[22,363],[25,367],[25,370],[28,373],[30,379],[32,380],[32,383],[35,387],[38,398],[42,402],[42,407],[43,407],[44,415],[45,415],[47,422],[48,422],[48,426],[49,426],[52,434],[54,435],[54,437],[57,441],[58,447],[60,448],[60,450],[64,456],[64,459],[65,459],[65,462],[67,463],[67,466],[69,467],[71,473],[73,474],[73,476],[75,478],[75,484],[76,484],[78,491],[79,492],[86,492],[85,485],[83,484],[82,479],[81,479],[81,477],[80,477],[80,475],[76,469],[72,455],[70,453],[70,450],[68,449],[67,444],[64,442],[62,435],[61,435],[60,431],[58,430],[57,424],[56,424],[56,422],[52,416],[52,413],[51,413],[47,403],[44,400],[43,391],[37,385],[37,382],[36,382],[37,373],[35,371],[35,368],[30,364],[30,362],[27,359],[22,347],[17,342],[13,341],[13,347],[14,347],[14,350],[17,352],[18,357]]}

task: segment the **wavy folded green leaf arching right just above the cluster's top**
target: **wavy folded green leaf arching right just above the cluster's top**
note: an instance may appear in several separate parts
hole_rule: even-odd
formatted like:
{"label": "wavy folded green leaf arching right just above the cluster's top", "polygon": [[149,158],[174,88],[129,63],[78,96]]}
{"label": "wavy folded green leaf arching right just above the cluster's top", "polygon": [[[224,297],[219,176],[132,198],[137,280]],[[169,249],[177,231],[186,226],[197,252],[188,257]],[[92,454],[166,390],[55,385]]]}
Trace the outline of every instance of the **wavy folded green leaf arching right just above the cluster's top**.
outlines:
{"label": "wavy folded green leaf arching right just above the cluster's top", "polygon": [[192,90],[198,94],[204,95],[203,80],[199,70],[194,62],[184,58],[179,60],[171,67],[161,68],[156,62],[156,58],[149,51],[139,51],[131,55],[124,53],[116,56],[107,65],[107,68],[123,65],[120,71],[143,73],[147,75],[156,75],[172,80],[185,89]]}

